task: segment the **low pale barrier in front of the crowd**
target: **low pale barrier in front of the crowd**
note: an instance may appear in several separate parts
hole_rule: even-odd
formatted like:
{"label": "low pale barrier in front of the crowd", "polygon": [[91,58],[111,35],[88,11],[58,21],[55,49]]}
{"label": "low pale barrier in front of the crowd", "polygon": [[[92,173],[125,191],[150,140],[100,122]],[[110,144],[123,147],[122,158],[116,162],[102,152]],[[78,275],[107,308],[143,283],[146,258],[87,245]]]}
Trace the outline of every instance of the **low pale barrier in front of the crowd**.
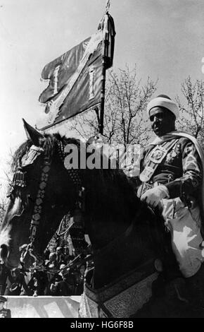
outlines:
{"label": "low pale barrier in front of the crowd", "polygon": [[77,318],[80,296],[7,296],[12,318]]}

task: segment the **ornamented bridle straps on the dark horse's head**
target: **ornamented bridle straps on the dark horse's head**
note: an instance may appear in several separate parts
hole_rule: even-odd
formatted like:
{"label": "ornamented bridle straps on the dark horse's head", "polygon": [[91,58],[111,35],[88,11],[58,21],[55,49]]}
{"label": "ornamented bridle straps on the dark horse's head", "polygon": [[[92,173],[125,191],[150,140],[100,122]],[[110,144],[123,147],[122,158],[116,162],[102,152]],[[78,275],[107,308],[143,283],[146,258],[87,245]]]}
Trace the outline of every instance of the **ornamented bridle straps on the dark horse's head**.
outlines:
{"label": "ornamented bridle straps on the dark horse's head", "polygon": [[[63,163],[65,160],[65,145],[62,141],[57,141],[57,149],[58,155],[60,157],[60,161]],[[42,219],[42,205],[44,203],[44,194],[46,191],[46,185],[49,180],[49,171],[51,170],[51,162],[52,162],[53,155],[51,153],[44,152],[44,161],[42,167],[42,174],[40,177],[39,188],[37,191],[36,200],[34,203],[34,209],[32,213],[32,218],[30,222],[30,242],[27,244],[24,254],[21,256],[21,261],[24,263],[25,258],[27,255],[30,255],[34,259],[35,269],[37,267],[42,266],[43,257],[37,254],[37,251],[34,247],[34,242],[37,239],[37,230],[39,229],[39,225]],[[75,185],[78,191],[78,198],[75,202],[75,205],[81,210],[84,210],[84,187],[82,186],[82,179],[79,174],[79,170],[77,169],[70,169],[67,170],[70,179],[72,180],[73,184]],[[71,225],[70,225],[71,227]],[[70,228],[69,227],[69,228]],[[69,229],[68,229],[69,230]],[[68,231],[67,230],[67,231]]]}

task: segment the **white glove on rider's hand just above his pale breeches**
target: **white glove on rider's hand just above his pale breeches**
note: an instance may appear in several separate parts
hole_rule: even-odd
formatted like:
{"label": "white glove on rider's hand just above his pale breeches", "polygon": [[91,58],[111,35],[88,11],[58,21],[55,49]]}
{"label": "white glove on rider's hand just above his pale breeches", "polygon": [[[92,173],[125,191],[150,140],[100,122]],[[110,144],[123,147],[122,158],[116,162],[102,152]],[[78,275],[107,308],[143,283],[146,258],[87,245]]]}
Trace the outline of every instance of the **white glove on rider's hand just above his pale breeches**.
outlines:
{"label": "white glove on rider's hand just above his pale breeches", "polygon": [[143,195],[141,195],[141,201],[145,201],[148,206],[151,206],[151,208],[158,206],[158,203],[160,203],[162,198],[170,198],[170,193],[167,187],[163,184],[148,189]]}

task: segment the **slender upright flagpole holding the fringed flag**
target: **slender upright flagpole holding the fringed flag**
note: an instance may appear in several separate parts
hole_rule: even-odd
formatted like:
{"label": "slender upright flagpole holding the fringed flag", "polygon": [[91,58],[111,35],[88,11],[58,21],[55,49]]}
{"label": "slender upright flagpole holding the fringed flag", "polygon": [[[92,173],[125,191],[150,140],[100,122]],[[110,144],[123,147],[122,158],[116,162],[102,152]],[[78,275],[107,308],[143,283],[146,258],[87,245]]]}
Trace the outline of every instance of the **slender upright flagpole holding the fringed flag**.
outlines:
{"label": "slender upright flagpole holding the fringed flag", "polygon": [[[110,8],[110,0],[106,3],[106,11],[105,15],[108,13]],[[105,28],[105,27],[103,27]],[[101,77],[101,105],[100,105],[100,118],[99,118],[99,126],[98,131],[99,134],[103,135],[103,119],[104,119],[104,106],[105,106],[105,91],[106,91],[106,67],[107,67],[107,59],[108,59],[108,44],[109,37],[108,33],[105,32],[103,39],[103,57],[102,57],[102,77]]]}

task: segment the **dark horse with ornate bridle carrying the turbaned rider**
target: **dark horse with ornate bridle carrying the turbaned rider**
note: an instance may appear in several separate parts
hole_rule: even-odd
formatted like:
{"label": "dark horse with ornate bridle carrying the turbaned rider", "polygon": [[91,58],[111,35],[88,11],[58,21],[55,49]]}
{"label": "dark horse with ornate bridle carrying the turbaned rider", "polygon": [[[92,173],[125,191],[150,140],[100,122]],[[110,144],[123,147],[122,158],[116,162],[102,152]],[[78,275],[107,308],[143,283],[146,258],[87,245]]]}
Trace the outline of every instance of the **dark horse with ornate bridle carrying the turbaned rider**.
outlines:
{"label": "dark horse with ornate bridle carrying the turbaned rider", "polygon": [[34,259],[40,261],[63,216],[75,211],[84,188],[84,232],[93,248],[94,271],[87,273],[80,315],[136,313],[151,298],[161,270],[158,262],[167,259],[169,236],[162,220],[136,198],[122,170],[68,170],[65,146],[73,144],[79,152],[79,141],[43,136],[25,126],[30,139],[13,159],[13,187],[0,232],[1,259],[9,268],[19,266],[19,248],[27,244],[31,254],[25,255],[25,268]]}

